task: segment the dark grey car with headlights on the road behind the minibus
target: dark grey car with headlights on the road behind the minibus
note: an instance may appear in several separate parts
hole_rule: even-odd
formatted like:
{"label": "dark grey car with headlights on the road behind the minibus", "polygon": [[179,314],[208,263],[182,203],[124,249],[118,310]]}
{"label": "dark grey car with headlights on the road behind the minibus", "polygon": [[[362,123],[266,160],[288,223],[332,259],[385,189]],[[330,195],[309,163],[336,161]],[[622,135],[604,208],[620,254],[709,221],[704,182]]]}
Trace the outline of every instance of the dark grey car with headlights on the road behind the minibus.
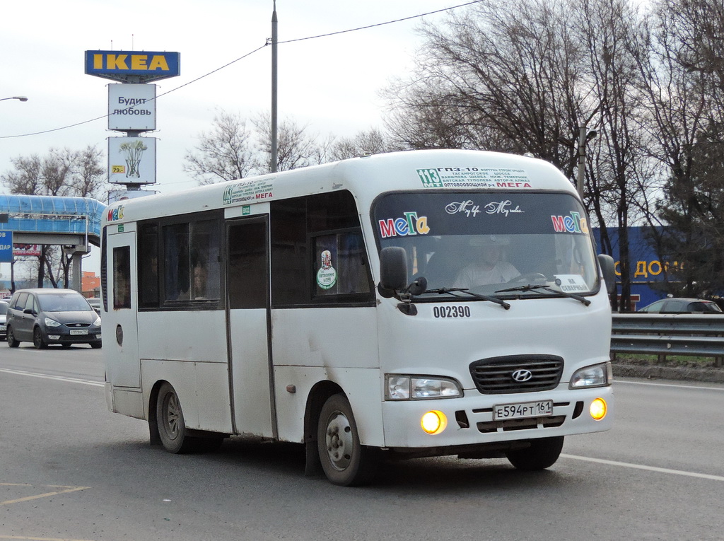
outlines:
{"label": "dark grey car with headlights on the road behind the minibus", "polygon": [[86,343],[101,347],[101,317],[85,297],[70,289],[17,290],[7,311],[7,345],[33,342],[36,348]]}

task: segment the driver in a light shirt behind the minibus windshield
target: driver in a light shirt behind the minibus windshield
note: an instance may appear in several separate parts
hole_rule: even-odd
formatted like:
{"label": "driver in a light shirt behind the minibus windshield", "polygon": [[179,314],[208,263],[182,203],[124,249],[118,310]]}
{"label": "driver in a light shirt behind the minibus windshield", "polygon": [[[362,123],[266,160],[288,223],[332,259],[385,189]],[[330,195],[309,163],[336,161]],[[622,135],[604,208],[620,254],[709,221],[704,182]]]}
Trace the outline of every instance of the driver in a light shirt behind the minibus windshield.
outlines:
{"label": "driver in a light shirt behind the minibus windshield", "polygon": [[454,288],[476,288],[479,285],[501,284],[520,276],[518,269],[504,261],[505,246],[510,238],[505,235],[476,236],[468,241],[473,262],[458,272]]}

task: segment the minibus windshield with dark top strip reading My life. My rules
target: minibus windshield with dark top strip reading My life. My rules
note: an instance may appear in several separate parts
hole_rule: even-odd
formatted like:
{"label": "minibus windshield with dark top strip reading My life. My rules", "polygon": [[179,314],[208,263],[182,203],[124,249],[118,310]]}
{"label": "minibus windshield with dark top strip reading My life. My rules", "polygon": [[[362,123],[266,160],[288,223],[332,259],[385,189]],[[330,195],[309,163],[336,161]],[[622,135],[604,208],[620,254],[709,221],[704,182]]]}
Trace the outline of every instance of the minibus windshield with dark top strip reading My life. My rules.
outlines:
{"label": "minibus windshield with dark top strip reading My life. My rules", "polygon": [[423,276],[435,290],[418,298],[440,298],[441,288],[503,298],[593,293],[585,216],[570,193],[387,193],[373,209],[379,248],[405,248],[409,280]]}

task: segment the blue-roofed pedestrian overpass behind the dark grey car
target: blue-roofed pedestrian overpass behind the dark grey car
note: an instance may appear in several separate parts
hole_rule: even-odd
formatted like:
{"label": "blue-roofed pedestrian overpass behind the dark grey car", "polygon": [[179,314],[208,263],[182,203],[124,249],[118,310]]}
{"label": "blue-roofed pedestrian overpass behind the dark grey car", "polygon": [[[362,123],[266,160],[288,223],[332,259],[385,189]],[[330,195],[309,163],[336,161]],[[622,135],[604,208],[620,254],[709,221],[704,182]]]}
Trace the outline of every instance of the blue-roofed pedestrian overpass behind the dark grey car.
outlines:
{"label": "blue-roofed pedestrian overpass behind the dark grey car", "polygon": [[12,231],[13,244],[62,246],[66,255],[72,255],[71,287],[80,291],[80,262],[90,244],[101,246],[105,209],[101,201],[89,197],[0,194],[0,231]]}

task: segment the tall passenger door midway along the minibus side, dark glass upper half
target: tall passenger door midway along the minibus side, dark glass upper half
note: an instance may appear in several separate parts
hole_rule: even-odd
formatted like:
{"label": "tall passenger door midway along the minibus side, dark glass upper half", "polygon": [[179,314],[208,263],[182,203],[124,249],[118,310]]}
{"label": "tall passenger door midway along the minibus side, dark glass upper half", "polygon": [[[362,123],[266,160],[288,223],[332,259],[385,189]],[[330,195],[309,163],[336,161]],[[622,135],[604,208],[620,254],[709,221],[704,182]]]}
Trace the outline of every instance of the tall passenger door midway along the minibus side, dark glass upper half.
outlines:
{"label": "tall passenger door midway along the minibus side, dark glass upper half", "polygon": [[269,219],[227,222],[227,340],[237,433],[276,436],[269,354]]}

